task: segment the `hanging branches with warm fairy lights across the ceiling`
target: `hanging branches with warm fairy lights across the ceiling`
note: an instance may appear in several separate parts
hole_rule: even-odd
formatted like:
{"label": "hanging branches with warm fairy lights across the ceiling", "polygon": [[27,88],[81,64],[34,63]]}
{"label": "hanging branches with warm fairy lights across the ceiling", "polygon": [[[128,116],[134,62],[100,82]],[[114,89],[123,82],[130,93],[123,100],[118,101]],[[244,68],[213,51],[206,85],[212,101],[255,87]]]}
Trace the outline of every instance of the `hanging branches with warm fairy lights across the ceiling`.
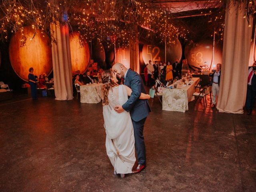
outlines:
{"label": "hanging branches with warm fairy lights across the ceiling", "polygon": [[[246,2],[248,18],[256,13],[256,0]],[[209,0],[198,5],[198,9],[204,10],[201,14],[209,17],[208,22],[218,29],[216,35],[221,38],[225,5],[226,0]],[[179,10],[185,10],[189,6],[191,2]],[[23,27],[28,25],[34,29],[34,35],[37,29],[41,29],[42,33],[46,32],[50,36],[50,23],[63,22],[63,15],[66,15],[70,30],[80,33],[81,45],[84,41],[97,39],[106,42],[110,47],[114,43],[113,37],[117,46],[128,45],[129,41],[135,38],[136,32],[139,37],[154,38],[159,42],[166,40],[167,44],[172,44],[177,38],[187,40],[190,33],[174,9],[171,4],[160,0],[55,0],[54,5],[47,0],[2,0],[0,39],[8,40],[12,33],[23,32]],[[134,30],[134,25],[138,26],[138,31]],[[21,46],[24,46],[27,39],[22,35],[20,41]]]}

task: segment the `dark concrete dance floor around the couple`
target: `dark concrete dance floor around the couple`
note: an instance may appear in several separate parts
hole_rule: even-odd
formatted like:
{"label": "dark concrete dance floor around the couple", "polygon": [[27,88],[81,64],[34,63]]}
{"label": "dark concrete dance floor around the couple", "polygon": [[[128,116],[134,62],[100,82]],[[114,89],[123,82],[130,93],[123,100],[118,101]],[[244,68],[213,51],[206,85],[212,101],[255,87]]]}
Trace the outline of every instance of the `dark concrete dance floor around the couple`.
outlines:
{"label": "dark concrete dance floor around the couple", "polygon": [[0,192],[253,192],[256,112],[224,114],[208,104],[146,120],[147,168],[113,175],[101,104],[39,98],[0,103]]}

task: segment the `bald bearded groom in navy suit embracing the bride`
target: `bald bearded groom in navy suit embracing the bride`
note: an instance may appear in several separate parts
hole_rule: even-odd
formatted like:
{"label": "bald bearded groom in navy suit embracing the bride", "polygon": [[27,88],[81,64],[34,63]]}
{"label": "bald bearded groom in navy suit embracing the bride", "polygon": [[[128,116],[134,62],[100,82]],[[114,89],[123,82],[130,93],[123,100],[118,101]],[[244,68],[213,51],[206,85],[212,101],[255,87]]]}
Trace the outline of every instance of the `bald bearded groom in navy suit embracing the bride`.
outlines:
{"label": "bald bearded groom in navy suit embracing the bride", "polygon": [[127,69],[123,64],[116,63],[112,66],[112,71],[118,78],[124,77],[124,85],[132,89],[132,94],[125,104],[115,106],[118,113],[124,110],[130,112],[134,129],[135,148],[138,156],[138,166],[133,173],[139,173],[146,168],[146,150],[143,136],[144,123],[150,112],[148,100],[139,99],[141,93],[146,94],[146,90],[140,75],[131,69]]}

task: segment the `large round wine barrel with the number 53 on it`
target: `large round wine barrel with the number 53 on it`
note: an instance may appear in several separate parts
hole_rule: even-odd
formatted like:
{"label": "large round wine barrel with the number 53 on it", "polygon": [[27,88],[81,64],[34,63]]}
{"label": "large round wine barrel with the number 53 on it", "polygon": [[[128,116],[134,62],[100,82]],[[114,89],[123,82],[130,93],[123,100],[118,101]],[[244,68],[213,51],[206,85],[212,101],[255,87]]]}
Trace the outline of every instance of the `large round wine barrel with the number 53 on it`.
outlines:
{"label": "large round wine barrel with the number 53 on it", "polygon": [[[211,39],[190,42],[185,46],[185,57],[193,70],[211,70],[222,62],[222,44],[215,42],[214,60],[212,63],[213,41]],[[212,66],[211,66],[212,63]]]}

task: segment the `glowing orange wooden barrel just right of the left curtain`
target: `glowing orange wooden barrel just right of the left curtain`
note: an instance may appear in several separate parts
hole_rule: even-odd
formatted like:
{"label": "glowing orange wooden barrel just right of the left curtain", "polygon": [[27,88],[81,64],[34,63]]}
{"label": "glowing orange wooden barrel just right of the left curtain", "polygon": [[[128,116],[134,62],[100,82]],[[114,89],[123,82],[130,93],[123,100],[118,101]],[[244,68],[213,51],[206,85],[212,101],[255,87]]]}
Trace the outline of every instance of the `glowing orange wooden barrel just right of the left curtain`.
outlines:
{"label": "glowing orange wooden barrel just right of the left curtain", "polygon": [[70,52],[72,62],[72,72],[80,70],[84,73],[90,62],[90,48],[86,41],[81,44],[79,39],[80,34],[73,32],[70,34]]}

